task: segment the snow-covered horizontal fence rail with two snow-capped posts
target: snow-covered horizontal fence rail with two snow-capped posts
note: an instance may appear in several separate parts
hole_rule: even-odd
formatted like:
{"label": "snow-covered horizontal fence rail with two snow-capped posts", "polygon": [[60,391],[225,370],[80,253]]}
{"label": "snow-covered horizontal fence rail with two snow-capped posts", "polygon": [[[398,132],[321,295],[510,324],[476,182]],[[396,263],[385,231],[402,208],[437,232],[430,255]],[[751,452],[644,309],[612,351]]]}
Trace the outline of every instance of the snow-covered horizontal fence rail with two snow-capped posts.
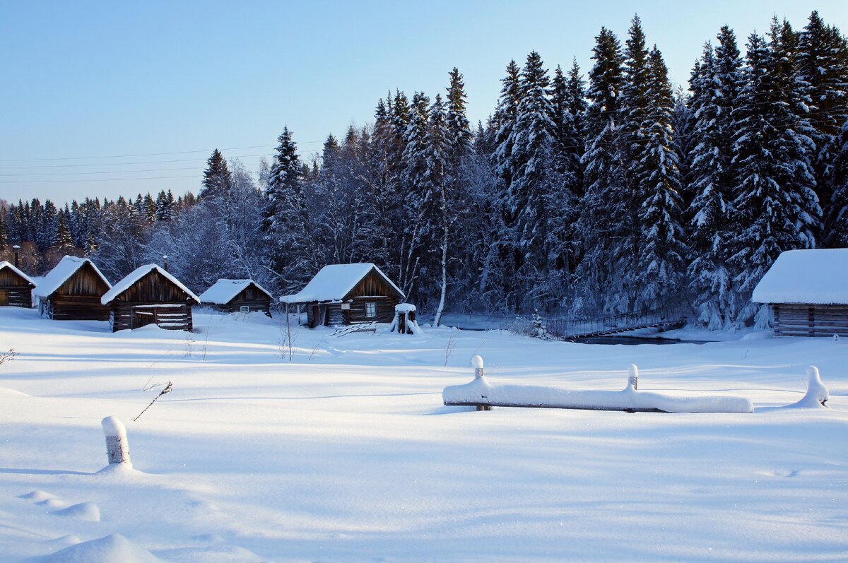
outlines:
{"label": "snow-covered horizontal fence rail with two snow-capped posts", "polygon": [[630,365],[628,385],[622,391],[579,391],[533,385],[492,385],[483,376],[483,359],[473,359],[476,375],[465,385],[444,387],[442,399],[449,406],[535,407],[547,409],[622,410],[626,412],[750,413],[749,399],[725,395],[678,397],[639,391],[639,370]]}

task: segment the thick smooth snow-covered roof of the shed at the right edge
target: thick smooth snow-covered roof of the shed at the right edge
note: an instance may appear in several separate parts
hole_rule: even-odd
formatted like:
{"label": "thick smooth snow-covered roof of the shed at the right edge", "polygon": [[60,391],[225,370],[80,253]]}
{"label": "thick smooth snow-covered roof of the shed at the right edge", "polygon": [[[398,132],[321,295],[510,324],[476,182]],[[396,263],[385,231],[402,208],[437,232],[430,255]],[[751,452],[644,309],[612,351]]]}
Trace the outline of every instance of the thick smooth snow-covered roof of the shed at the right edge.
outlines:
{"label": "thick smooth snow-covered roof of the shed at the right edge", "polygon": [[756,284],[755,303],[848,304],[848,248],[787,250]]}

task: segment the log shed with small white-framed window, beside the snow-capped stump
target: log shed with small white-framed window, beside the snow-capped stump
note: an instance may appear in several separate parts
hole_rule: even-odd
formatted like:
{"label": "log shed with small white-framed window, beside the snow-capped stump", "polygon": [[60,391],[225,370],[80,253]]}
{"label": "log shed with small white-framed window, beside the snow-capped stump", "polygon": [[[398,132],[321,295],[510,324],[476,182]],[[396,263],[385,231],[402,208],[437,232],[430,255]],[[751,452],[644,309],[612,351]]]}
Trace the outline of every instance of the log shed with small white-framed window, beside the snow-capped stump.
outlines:
{"label": "log shed with small white-framed window, beside the snow-capped stump", "polygon": [[302,290],[280,298],[282,303],[306,307],[310,328],[392,322],[394,306],[404,293],[373,264],[326,265]]}

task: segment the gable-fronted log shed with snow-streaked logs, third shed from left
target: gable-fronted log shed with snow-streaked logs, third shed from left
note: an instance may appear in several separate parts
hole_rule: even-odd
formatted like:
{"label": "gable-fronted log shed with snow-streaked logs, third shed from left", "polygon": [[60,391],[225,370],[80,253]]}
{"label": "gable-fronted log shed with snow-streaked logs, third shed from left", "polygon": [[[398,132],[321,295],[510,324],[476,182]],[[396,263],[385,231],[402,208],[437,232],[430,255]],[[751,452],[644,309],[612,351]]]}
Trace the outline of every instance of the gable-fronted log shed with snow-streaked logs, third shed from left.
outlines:
{"label": "gable-fronted log shed with snow-streaked logs, third shed from left", "polygon": [[191,331],[192,305],[200,299],[166,270],[148,264],[115,283],[100,302],[109,307],[112,332],[152,324]]}

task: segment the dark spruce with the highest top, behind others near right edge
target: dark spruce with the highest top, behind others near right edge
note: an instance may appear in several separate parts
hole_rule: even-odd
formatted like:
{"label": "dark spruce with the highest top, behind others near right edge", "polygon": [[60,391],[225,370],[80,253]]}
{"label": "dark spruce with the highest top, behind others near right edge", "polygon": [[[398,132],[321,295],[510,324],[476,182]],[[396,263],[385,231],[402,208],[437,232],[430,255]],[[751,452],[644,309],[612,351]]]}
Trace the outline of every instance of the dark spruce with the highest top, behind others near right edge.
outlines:
{"label": "dark spruce with the highest top, behind others near right edge", "polygon": [[826,205],[833,193],[832,165],[839,148],[835,142],[848,119],[848,43],[840,31],[826,25],[817,11],[799,34],[798,71],[809,97],[809,120],[816,156],[812,159],[819,201]]}

